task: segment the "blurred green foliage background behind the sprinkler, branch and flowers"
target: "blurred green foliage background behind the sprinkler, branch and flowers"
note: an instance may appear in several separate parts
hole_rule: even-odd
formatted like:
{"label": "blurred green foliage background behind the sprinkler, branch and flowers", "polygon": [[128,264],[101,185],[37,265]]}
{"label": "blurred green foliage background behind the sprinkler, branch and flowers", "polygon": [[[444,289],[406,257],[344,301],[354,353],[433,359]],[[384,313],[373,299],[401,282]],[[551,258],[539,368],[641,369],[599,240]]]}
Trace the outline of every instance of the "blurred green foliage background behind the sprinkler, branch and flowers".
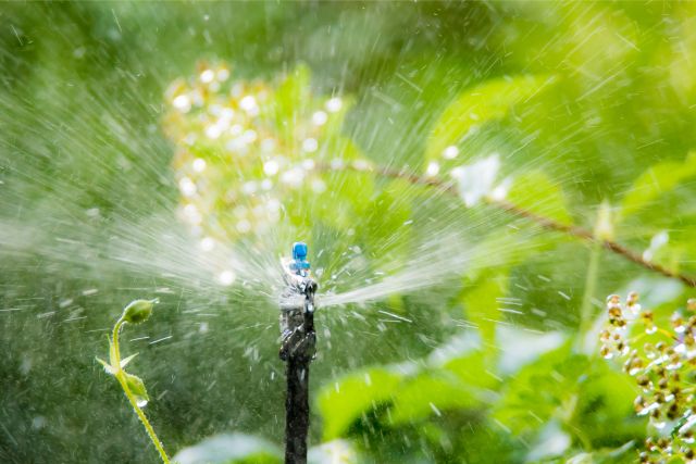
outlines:
{"label": "blurred green foliage background behind the sprinkler, branch and flowers", "polygon": [[[594,229],[606,201],[617,240],[696,273],[694,3],[12,3],[0,17],[2,462],[156,460],[94,362],[123,303],[152,294],[157,327],[134,327],[129,343],[167,450],[208,452],[201,440],[236,430],[212,439],[220,460],[277,459],[273,302],[182,283],[165,265],[129,267],[115,239],[125,228],[156,242],[142,230],[153,217],[181,227],[164,95],[201,60],[268,81],[303,63],[316,95],[355,99],[340,137],[371,163],[423,172],[456,146],[447,178],[498,153],[513,204]],[[414,243],[451,231],[475,244],[476,266],[319,313],[311,441],[333,443],[314,450],[320,462],[635,459],[646,424],[631,384],[582,348],[593,336],[579,330],[583,294],[594,289],[592,326],[604,294],[635,289],[659,319],[693,290],[606,252],[587,272],[587,243],[494,205],[332,176],[321,227],[298,212],[326,250],[316,266],[341,268],[359,244],[368,267],[396,273]]]}

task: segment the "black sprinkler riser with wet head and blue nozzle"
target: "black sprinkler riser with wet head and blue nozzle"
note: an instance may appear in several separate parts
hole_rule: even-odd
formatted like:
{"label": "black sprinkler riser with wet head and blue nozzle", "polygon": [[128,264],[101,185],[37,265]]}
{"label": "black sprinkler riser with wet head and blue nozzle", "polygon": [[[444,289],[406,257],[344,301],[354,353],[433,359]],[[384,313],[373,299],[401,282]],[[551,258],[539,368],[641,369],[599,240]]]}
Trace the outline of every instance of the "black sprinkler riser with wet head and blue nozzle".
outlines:
{"label": "black sprinkler riser with wet head and blue nozzle", "polygon": [[293,259],[283,262],[285,290],[281,294],[281,360],[286,362],[285,463],[307,463],[309,430],[309,364],[316,352],[314,293],[307,243],[293,244]]}

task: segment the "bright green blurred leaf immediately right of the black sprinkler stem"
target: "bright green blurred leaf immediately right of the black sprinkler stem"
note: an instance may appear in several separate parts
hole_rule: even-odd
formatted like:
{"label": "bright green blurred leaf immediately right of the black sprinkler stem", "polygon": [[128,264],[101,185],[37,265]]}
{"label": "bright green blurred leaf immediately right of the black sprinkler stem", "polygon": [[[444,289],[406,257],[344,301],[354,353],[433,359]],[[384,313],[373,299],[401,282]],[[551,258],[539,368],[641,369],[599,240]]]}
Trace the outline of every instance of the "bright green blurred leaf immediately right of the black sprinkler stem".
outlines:
{"label": "bright green blurred leaf immediately right of the black sprinkler stem", "polygon": [[350,374],[319,393],[319,411],[324,422],[324,439],[348,431],[363,414],[393,401],[403,376],[393,369],[374,367]]}

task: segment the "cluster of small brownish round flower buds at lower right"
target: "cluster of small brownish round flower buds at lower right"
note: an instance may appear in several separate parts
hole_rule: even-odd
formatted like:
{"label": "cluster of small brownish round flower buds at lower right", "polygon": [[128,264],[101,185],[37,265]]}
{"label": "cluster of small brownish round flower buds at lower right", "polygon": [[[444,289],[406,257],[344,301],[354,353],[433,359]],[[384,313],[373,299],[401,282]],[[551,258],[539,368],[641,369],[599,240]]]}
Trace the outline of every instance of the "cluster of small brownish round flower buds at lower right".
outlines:
{"label": "cluster of small brownish round flower buds at lower right", "polygon": [[671,329],[658,327],[652,312],[643,310],[632,292],[625,303],[607,298],[608,323],[600,334],[602,356],[624,359],[623,371],[635,378],[641,394],[635,412],[647,416],[654,430],[641,462],[696,463],[696,300],[670,318]]}

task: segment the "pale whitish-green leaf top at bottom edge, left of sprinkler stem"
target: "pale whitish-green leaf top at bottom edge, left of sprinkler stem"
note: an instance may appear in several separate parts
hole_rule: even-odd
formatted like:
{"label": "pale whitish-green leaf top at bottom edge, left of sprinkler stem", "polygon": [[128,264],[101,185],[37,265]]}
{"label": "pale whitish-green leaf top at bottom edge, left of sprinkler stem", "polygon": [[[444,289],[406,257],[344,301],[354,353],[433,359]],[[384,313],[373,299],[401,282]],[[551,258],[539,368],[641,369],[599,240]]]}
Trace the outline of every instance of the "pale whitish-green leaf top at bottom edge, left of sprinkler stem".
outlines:
{"label": "pale whitish-green leaf top at bottom edge, left of sprinkler stem", "polygon": [[221,434],[184,448],[172,459],[178,464],[279,464],[282,451],[262,438],[246,434]]}

